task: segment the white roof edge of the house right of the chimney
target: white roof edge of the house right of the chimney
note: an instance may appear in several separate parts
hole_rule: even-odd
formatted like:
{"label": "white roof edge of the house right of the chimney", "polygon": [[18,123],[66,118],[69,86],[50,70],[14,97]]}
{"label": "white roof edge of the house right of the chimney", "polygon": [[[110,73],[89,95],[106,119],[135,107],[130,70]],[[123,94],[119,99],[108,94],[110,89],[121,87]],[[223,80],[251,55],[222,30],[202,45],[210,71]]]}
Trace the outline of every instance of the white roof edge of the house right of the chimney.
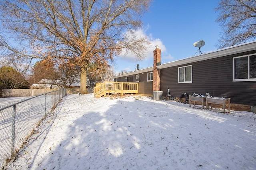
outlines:
{"label": "white roof edge of the house right of the chimney", "polygon": [[164,63],[161,64],[159,66],[157,66],[157,68],[168,68],[171,66],[177,66],[177,65],[182,65],[182,64],[188,64],[188,63],[194,63],[197,61],[204,61],[204,60],[208,60],[208,59],[214,59],[214,58],[218,58],[218,57],[223,57],[223,56],[227,56],[227,55],[233,55],[233,54],[237,54],[237,53],[243,53],[243,52],[247,52],[247,51],[252,51],[256,49],[256,41],[251,41],[248,43],[243,43],[240,45],[234,45],[231,47],[227,47],[224,49],[219,49],[216,51],[212,51],[210,53],[206,53],[206,54],[202,54],[202,55],[198,55],[195,57],[188,57],[185,59],[180,59],[180,60],[176,60],[176,61],[171,61],[169,63]]}

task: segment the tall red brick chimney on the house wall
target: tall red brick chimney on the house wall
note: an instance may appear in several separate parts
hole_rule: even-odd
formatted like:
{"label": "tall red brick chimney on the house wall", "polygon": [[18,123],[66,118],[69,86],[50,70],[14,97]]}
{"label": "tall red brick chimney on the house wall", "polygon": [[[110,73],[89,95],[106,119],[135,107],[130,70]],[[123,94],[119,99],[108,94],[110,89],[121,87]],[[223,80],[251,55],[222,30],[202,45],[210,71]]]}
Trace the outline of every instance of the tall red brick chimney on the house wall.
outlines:
{"label": "tall red brick chimney on the house wall", "polygon": [[160,75],[161,70],[156,66],[161,65],[161,50],[156,45],[154,52],[154,65],[153,65],[153,91],[160,91]]}

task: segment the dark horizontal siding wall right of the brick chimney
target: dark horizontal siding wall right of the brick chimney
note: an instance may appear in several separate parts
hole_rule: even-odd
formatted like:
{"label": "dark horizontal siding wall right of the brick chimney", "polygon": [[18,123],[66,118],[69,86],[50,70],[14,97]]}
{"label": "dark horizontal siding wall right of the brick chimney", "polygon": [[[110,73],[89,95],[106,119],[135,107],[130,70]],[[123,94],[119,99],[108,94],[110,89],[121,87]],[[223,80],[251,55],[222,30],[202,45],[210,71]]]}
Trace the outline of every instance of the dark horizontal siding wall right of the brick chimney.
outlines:
{"label": "dark horizontal siding wall right of the brick chimney", "polygon": [[[253,51],[251,53],[256,53]],[[180,66],[192,65],[192,83],[178,83],[178,67],[163,68],[161,70],[161,91],[163,96],[170,89],[172,97],[186,94],[203,94],[208,92],[214,97],[229,97],[231,103],[256,105],[256,81],[233,82],[233,57],[247,55],[246,53],[226,57],[218,57],[206,61],[189,63]]]}

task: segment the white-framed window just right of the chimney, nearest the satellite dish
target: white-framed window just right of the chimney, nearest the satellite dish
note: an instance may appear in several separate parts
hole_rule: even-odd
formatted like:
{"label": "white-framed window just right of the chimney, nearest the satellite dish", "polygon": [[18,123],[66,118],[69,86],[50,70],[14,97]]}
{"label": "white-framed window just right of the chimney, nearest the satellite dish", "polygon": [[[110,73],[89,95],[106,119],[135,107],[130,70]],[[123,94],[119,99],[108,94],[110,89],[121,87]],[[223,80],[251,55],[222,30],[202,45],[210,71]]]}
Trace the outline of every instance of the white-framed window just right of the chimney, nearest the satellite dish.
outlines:
{"label": "white-framed window just right of the chimney, nearest the satellite dish", "polygon": [[192,65],[178,68],[178,83],[192,83]]}

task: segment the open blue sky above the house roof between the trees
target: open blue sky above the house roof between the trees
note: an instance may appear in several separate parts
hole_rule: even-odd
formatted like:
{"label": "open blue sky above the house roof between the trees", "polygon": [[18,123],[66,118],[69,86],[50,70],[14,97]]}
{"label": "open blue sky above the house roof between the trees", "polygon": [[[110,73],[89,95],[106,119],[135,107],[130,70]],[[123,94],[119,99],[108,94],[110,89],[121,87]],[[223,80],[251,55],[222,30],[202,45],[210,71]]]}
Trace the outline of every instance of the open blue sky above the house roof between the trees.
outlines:
{"label": "open blue sky above the house roof between the trees", "polygon": [[[142,61],[133,56],[118,57],[116,72],[134,71],[153,66],[153,50],[156,45],[162,50],[161,63],[168,63],[198,55],[196,41],[204,40],[202,53],[217,50],[221,36],[217,13],[214,8],[220,0],[154,0],[147,14],[142,16],[143,33],[150,37],[154,48]],[[197,52],[197,53],[196,53]]]}

